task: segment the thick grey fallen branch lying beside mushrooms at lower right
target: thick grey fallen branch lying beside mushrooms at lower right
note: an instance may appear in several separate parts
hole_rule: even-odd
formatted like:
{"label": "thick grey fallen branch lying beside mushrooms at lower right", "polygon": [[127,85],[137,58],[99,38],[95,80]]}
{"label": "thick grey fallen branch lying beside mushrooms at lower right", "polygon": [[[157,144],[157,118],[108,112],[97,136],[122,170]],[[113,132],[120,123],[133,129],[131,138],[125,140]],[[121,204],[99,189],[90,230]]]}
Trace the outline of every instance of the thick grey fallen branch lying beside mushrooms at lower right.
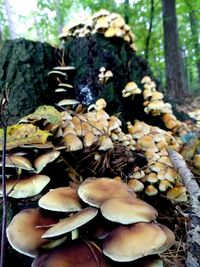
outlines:
{"label": "thick grey fallen branch lying beside mushrooms at lower right", "polygon": [[190,213],[186,241],[186,267],[200,266],[200,188],[183,157],[168,149],[169,158],[175,170],[182,177],[190,196]]}

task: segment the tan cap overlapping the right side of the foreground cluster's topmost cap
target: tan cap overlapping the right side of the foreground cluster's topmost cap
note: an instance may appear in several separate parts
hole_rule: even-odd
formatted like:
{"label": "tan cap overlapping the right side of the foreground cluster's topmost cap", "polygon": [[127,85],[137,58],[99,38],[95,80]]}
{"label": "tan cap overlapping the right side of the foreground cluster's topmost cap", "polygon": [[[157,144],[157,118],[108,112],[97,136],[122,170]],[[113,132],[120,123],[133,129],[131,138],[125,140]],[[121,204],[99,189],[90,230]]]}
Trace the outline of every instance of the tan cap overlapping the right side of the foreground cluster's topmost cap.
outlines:
{"label": "tan cap overlapping the right side of the foreground cluster's topmost cap", "polygon": [[101,206],[102,215],[110,221],[121,224],[150,222],[156,219],[157,211],[137,198],[111,198]]}

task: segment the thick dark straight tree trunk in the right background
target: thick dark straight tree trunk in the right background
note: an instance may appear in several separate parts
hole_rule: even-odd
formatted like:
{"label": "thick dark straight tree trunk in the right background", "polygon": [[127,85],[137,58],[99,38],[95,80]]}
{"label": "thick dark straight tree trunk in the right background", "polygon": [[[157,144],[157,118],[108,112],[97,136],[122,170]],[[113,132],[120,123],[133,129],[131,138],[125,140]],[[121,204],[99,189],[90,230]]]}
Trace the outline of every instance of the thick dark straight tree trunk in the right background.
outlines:
{"label": "thick dark straight tree trunk in the right background", "polygon": [[185,94],[186,86],[178,44],[176,1],[162,0],[162,9],[167,92],[170,96],[181,99]]}

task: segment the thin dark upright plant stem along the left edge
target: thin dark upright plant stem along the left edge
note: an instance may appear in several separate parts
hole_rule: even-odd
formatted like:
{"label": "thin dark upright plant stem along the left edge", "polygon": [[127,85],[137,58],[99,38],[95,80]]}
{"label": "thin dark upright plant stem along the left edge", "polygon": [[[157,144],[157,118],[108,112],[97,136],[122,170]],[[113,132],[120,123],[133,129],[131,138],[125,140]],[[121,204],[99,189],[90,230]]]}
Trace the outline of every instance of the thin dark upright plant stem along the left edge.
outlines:
{"label": "thin dark upright plant stem along the left edge", "polygon": [[2,187],[3,187],[3,214],[2,214],[2,227],[1,227],[1,256],[0,267],[4,266],[5,247],[6,247],[6,224],[7,224],[7,196],[6,196],[6,132],[7,127],[3,126],[3,147],[2,147]]}

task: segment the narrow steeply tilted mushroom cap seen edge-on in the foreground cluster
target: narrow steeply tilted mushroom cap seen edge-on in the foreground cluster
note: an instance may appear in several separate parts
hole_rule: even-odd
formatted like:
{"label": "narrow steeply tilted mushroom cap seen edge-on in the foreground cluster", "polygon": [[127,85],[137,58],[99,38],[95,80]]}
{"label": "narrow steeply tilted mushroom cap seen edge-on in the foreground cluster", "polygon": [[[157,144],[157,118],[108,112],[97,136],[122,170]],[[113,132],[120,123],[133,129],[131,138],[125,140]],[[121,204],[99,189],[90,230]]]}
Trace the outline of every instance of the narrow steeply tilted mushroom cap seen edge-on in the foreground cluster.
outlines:
{"label": "narrow steeply tilted mushroom cap seen edge-on in the foreground cluster", "polygon": [[52,226],[42,235],[42,238],[51,238],[71,232],[92,220],[97,213],[98,210],[92,207],[82,209]]}

